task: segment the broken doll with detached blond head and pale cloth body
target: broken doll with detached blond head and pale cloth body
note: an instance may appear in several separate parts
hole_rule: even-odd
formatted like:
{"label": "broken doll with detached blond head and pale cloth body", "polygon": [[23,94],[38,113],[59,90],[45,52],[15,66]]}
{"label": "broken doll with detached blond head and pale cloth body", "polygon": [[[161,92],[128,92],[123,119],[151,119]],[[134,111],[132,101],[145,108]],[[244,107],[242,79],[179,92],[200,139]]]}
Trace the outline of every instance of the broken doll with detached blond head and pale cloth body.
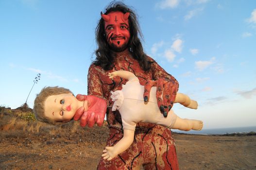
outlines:
{"label": "broken doll with detached blond head and pale cloth body", "polygon": [[[138,78],[129,71],[119,70],[109,73],[109,78],[119,76],[128,79],[122,90],[111,92],[111,99],[114,102],[112,111],[119,110],[122,118],[123,138],[113,147],[105,147],[103,158],[108,161],[113,159],[119,153],[125,151],[134,140],[134,132],[137,122],[150,122],[160,124],[171,129],[183,131],[201,130],[203,122],[200,120],[181,119],[170,110],[167,118],[160,112],[156,97],[156,87],[152,87],[151,98],[144,103],[143,92],[144,86],[139,84]],[[45,87],[36,96],[34,101],[34,114],[36,119],[50,124],[65,123],[73,119],[75,112],[81,106],[87,111],[91,101],[95,96],[86,96],[87,100],[79,101],[69,89],[63,87]],[[102,99],[103,100],[103,99]],[[197,102],[182,93],[177,93],[175,103],[197,109]],[[105,109],[105,108],[104,108]],[[102,110],[97,107],[96,111]]]}

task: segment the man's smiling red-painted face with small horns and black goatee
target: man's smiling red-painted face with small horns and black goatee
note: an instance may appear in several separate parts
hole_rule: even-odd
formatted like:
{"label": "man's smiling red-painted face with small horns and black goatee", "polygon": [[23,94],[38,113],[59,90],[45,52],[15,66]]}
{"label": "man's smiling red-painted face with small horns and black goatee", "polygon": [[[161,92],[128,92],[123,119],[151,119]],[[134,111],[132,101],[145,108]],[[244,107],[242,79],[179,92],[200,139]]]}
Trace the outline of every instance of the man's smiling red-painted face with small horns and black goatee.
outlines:
{"label": "man's smiling red-painted face with small horns and black goatee", "polygon": [[103,15],[105,21],[106,40],[114,51],[123,51],[130,40],[129,17],[130,13],[111,12]]}

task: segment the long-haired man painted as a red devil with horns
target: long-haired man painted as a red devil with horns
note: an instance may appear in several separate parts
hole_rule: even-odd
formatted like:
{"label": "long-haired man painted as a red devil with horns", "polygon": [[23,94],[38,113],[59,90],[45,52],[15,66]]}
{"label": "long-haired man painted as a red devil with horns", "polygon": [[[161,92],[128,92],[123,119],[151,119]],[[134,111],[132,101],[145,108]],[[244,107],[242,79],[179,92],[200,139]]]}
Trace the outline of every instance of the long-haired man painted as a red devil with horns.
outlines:
{"label": "long-haired man painted as a red devil with horns", "polygon": [[[138,38],[140,33],[136,14],[120,2],[112,2],[106,8],[96,28],[98,49],[96,59],[88,71],[88,95],[100,97],[95,99],[83,114],[83,108],[77,112],[75,120],[80,119],[81,125],[92,126],[95,122],[101,125],[104,118],[103,111],[99,112],[100,105],[110,101],[110,91],[120,90],[127,80],[109,79],[108,73],[115,70],[133,72],[141,85],[145,85],[144,101],[148,102],[149,91],[152,85],[157,85],[157,101],[160,111],[167,117],[178,89],[178,82],[174,77],[161,68],[152,58],[143,52]],[[155,81],[154,81],[155,80]],[[163,100],[161,95],[163,92]],[[84,96],[77,96],[83,100]],[[118,111],[111,111],[113,102],[107,103],[107,122],[110,136],[107,146],[113,146],[123,136],[122,122]],[[132,106],[131,106],[132,107]],[[98,113],[95,113],[98,111]],[[99,170],[176,170],[178,161],[174,140],[170,129],[149,123],[137,123],[134,141],[125,152],[111,161],[100,160]]]}

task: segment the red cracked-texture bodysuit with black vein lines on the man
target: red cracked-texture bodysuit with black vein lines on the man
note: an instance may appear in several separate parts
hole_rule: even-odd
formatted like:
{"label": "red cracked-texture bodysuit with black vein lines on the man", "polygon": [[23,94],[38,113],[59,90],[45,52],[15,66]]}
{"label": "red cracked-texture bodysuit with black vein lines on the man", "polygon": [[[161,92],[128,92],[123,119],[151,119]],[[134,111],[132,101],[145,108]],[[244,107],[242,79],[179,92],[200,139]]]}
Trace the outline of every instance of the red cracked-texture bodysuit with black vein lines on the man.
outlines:
{"label": "red cracked-texture bodysuit with black vein lines on the man", "polygon": [[[110,91],[120,90],[127,80],[115,77],[109,79],[108,72],[127,70],[133,72],[141,85],[147,80],[168,78],[178,85],[176,79],[161,68],[152,58],[151,70],[145,72],[128,51],[117,54],[114,67],[105,71],[100,66],[91,65],[88,71],[88,95],[102,96],[110,101]],[[123,136],[122,122],[119,111],[111,111],[112,102],[107,109],[107,122],[110,134],[107,146],[115,145]],[[132,107],[132,106],[131,106]],[[150,123],[137,123],[133,144],[125,152],[120,153],[111,161],[101,158],[98,170],[132,170],[141,166],[146,170],[177,170],[178,160],[174,140],[170,129]]]}

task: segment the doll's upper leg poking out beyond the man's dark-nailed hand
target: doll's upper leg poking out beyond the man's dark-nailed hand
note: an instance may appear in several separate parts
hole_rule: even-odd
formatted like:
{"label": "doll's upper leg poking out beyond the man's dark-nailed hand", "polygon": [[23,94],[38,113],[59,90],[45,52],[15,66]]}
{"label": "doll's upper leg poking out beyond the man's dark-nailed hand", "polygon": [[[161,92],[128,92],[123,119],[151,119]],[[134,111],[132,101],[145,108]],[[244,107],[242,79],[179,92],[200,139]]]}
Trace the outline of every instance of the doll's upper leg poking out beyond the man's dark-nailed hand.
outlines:
{"label": "doll's upper leg poking out beyond the man's dark-nailed hand", "polygon": [[191,109],[197,109],[198,106],[196,101],[191,100],[187,95],[182,93],[177,93],[174,103],[177,102]]}

